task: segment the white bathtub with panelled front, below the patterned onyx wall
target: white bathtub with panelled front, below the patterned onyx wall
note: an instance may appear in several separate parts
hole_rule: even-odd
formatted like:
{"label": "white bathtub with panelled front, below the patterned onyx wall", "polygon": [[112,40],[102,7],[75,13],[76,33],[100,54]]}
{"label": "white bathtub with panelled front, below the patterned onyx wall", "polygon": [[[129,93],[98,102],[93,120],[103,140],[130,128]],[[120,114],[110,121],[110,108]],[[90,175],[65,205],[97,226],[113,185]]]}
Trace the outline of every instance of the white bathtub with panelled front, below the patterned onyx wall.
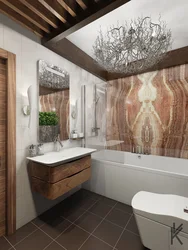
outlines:
{"label": "white bathtub with panelled front, below the patterned onyx wall", "polygon": [[102,150],[84,188],[129,205],[139,191],[188,197],[188,160]]}

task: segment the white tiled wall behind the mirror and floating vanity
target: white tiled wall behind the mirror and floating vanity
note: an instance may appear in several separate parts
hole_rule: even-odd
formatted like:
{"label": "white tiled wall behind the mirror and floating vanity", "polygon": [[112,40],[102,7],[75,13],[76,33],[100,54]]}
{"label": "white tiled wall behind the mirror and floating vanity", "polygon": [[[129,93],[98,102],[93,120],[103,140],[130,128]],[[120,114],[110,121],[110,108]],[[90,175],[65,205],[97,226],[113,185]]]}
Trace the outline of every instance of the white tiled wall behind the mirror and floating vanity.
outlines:
{"label": "white tiled wall behind the mirror and floating vanity", "polygon": [[[70,73],[70,101],[74,103],[81,98],[82,84],[101,83],[101,80],[54,52],[40,45],[39,39],[4,15],[0,15],[0,48],[16,54],[16,172],[17,172],[17,228],[35,218],[41,212],[54,205],[38,194],[31,192],[28,173],[27,148],[37,144],[37,61],[46,60]],[[28,117],[22,114],[22,106],[27,104],[28,87],[34,87],[35,108],[32,113],[31,128],[28,128]],[[77,129],[81,130],[81,110],[77,121]],[[73,121],[70,121],[72,128]],[[64,147],[80,145],[65,141]],[[53,143],[45,144],[45,151],[53,150]],[[62,198],[61,198],[62,199]],[[57,202],[57,201],[55,201]]]}

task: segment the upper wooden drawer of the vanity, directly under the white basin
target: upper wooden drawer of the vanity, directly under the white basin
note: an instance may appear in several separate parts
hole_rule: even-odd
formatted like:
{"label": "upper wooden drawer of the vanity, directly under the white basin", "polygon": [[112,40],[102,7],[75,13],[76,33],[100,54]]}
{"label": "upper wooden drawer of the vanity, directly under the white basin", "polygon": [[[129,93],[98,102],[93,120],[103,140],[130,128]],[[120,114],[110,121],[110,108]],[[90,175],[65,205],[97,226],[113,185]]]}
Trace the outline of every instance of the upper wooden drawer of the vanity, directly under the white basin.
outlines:
{"label": "upper wooden drawer of the vanity, directly under the white basin", "polygon": [[56,183],[89,167],[91,167],[91,156],[86,156],[57,167],[49,167],[33,162],[31,176],[48,183]]}

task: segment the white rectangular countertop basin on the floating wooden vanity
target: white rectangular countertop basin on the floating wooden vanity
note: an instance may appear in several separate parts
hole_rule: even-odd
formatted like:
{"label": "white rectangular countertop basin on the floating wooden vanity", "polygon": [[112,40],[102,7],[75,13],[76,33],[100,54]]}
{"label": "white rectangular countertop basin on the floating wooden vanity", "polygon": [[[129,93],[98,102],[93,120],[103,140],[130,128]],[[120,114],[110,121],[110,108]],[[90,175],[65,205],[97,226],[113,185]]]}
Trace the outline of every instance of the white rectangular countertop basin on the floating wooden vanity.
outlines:
{"label": "white rectangular countertop basin on the floating wooden vanity", "polygon": [[90,155],[95,151],[96,149],[91,149],[91,148],[81,148],[81,147],[67,148],[67,149],[62,149],[59,152],[49,152],[45,153],[44,155],[36,157],[27,157],[27,159],[40,164],[55,166],[57,165],[57,163],[70,162],[80,157]]}

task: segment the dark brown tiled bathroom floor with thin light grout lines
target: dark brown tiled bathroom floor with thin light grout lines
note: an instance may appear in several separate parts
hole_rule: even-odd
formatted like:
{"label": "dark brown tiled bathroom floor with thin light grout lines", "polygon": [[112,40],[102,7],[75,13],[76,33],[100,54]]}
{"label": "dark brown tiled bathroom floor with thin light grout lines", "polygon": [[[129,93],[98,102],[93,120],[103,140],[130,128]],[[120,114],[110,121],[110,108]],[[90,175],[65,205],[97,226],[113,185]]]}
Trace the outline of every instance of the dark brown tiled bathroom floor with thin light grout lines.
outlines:
{"label": "dark brown tiled bathroom floor with thin light grout lines", "polygon": [[81,189],[0,238],[1,250],[144,250],[132,208]]}

